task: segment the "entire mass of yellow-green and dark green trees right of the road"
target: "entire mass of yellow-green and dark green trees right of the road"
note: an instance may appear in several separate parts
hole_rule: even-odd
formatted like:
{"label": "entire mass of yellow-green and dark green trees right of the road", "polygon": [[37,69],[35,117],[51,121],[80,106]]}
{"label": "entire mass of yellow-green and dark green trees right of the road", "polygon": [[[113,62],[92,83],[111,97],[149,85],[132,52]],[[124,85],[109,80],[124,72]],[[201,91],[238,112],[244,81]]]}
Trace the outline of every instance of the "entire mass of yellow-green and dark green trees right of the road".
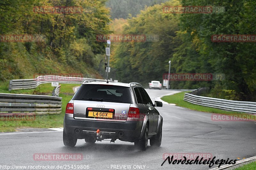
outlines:
{"label": "entire mass of yellow-green and dark green trees right of the road", "polygon": [[[223,6],[224,13],[163,13],[163,6]],[[159,41],[122,43],[114,52],[121,81],[162,81],[168,73],[222,73],[225,80],[174,81],[171,88],[210,87],[213,97],[256,101],[256,46],[253,42],[211,41],[214,34],[255,34],[253,0],[170,0],[128,19],[124,34],[158,34]],[[220,87],[214,88],[217,84]],[[220,94],[218,94],[220,93]]]}

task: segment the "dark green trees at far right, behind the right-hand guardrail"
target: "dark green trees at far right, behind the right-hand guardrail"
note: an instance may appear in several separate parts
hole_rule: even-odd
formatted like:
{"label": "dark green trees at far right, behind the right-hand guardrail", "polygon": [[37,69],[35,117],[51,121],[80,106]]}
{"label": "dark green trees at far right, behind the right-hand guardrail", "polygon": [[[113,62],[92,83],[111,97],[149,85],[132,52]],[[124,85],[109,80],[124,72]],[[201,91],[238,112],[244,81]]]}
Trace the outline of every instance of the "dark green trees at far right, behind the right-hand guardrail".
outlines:
{"label": "dark green trees at far right, behind the right-hand guardrail", "polygon": [[[255,43],[215,43],[213,34],[253,34],[255,33],[255,1],[241,0],[182,0],[183,5],[224,6],[226,12],[220,14],[181,15],[181,29],[190,36],[187,41],[197,42],[196,52],[202,71],[224,73],[226,80],[221,89],[234,90],[240,100],[256,100],[255,86]],[[254,10],[254,12],[253,12]],[[204,62],[202,62],[204,61]],[[214,84],[214,82],[212,83]],[[214,86],[214,85],[212,85]],[[232,97],[231,97],[232,98]]]}

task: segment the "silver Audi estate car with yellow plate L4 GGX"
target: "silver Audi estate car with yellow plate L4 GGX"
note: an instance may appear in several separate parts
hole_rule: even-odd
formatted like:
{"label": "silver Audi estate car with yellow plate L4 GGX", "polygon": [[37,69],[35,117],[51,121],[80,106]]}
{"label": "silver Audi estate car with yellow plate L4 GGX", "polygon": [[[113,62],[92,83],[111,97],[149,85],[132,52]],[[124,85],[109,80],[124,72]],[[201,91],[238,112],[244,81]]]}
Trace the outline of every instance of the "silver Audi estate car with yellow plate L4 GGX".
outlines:
{"label": "silver Audi estate car with yellow plate L4 GGX", "polygon": [[139,83],[85,81],[68,102],[64,117],[63,143],[75,146],[77,139],[95,143],[104,139],[134,142],[146,150],[160,146],[163,118]]}

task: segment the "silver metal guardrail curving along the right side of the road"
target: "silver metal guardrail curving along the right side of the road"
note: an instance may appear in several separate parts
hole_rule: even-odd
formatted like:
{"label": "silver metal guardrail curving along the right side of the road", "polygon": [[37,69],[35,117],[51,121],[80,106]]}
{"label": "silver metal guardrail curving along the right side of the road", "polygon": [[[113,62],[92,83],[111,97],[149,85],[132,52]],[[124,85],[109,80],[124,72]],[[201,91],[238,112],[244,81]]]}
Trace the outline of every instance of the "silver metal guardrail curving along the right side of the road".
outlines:
{"label": "silver metal guardrail curving along the right side of the road", "polygon": [[191,93],[185,93],[183,100],[189,103],[206,106],[206,107],[214,107],[214,108],[236,111],[236,112],[256,113],[256,102],[225,100],[225,99],[197,96]]}

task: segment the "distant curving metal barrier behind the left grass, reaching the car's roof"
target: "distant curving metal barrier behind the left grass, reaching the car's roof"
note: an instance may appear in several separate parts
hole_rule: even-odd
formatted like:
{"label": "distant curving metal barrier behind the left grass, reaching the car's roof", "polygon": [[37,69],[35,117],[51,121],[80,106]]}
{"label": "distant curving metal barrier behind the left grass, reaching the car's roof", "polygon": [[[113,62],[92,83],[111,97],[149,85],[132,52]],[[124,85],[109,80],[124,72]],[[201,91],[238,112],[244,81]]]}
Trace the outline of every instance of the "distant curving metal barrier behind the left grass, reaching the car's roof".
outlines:
{"label": "distant curving metal barrier behind the left grass, reaching the car's roof", "polygon": [[[10,80],[9,91],[18,89],[34,89],[38,85],[51,82],[59,82],[63,84],[82,84],[85,80],[106,81],[95,78],[79,78],[79,77],[63,77],[63,76],[38,76],[34,79],[18,79]],[[112,82],[112,81],[110,81]]]}

